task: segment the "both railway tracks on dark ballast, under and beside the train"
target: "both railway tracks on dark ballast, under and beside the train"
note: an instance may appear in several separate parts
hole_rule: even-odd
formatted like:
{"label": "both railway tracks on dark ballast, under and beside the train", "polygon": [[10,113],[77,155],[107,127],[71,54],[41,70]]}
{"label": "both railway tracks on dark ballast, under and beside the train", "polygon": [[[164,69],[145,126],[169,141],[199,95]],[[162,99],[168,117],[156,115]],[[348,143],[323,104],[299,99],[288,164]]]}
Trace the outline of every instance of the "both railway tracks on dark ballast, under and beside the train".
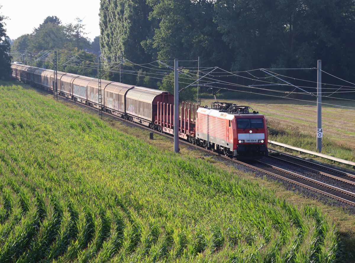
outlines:
{"label": "both railway tracks on dark ballast, under and beside the train", "polygon": [[[62,97],[62,98],[67,99],[66,97]],[[69,100],[69,101],[71,101],[71,100]],[[74,102],[74,101],[72,101],[72,102]],[[74,103],[76,103],[76,102],[74,102]],[[82,106],[85,106],[85,107],[88,107],[88,108],[91,108],[92,110],[97,111],[96,109],[94,109],[94,108],[92,108],[92,107],[90,107],[88,105],[85,105],[83,103],[78,103],[78,104],[82,105]],[[105,114],[107,116],[110,116],[110,117],[119,118],[118,116],[115,116],[113,114],[109,114],[107,112],[103,112],[103,114]],[[161,133],[159,131],[152,130],[152,129],[150,129],[150,128],[146,127],[146,126],[143,126],[141,124],[138,124],[138,123],[135,123],[135,122],[130,122],[130,121],[127,121],[127,120],[125,120],[123,118],[119,118],[119,119],[122,120],[122,121],[126,121],[126,122],[128,122],[128,123],[130,123],[132,125],[137,126],[137,127],[141,127],[141,128],[147,129],[149,131],[152,131],[152,132],[154,132],[156,134],[160,134],[160,135],[163,135],[163,136],[171,138],[171,136],[168,135],[168,134],[164,134],[164,133]],[[189,142],[186,142],[184,140],[179,140],[179,141],[182,142],[185,145],[196,147],[197,149],[206,151],[206,152],[208,152],[210,154],[214,154],[216,156],[223,157],[223,158],[225,158],[225,159],[227,159],[229,161],[234,161],[236,163],[242,164],[242,165],[250,167],[252,169],[256,169],[256,170],[259,170],[259,171],[261,171],[263,173],[272,175],[273,177],[277,177],[277,178],[280,178],[282,180],[288,181],[290,183],[294,183],[296,185],[300,185],[300,186],[302,186],[304,188],[310,189],[310,190],[318,192],[320,194],[332,197],[332,198],[334,198],[336,200],[345,202],[345,203],[347,203],[349,205],[355,206],[355,193],[353,193],[353,192],[346,191],[346,190],[337,188],[336,186],[328,185],[326,183],[322,183],[320,181],[305,177],[305,176],[300,175],[300,174],[293,173],[291,171],[288,171],[288,170],[285,170],[285,169],[282,169],[282,168],[278,168],[278,167],[272,166],[272,165],[267,164],[267,163],[263,163],[263,162],[256,161],[256,160],[239,161],[239,160],[231,159],[230,157],[226,157],[224,155],[221,155],[220,153],[207,150],[207,149],[205,149],[203,147],[196,146],[196,145],[191,144]],[[281,158],[283,158],[283,161],[288,161],[287,157],[281,157]],[[308,161],[304,161],[304,160],[301,160],[301,159],[299,159],[296,162],[296,159],[299,159],[299,158],[295,157],[294,163],[292,163],[292,164],[294,164],[296,166],[301,166],[302,168],[309,169],[309,170],[312,169],[313,172],[317,171],[317,172],[322,173],[322,174],[324,173],[324,175],[333,177],[333,178],[335,178],[337,180],[342,180],[344,183],[355,185],[355,175],[344,173],[344,172],[341,172],[341,171],[338,171],[338,170],[335,170],[335,169],[332,169],[332,168],[320,166],[318,164],[311,163],[311,162],[308,162]],[[282,160],[282,159],[280,159],[280,160]],[[304,163],[307,162],[308,163],[307,166],[304,165],[304,164],[300,164],[302,161],[304,161]],[[289,162],[291,162],[291,161],[289,161]],[[302,165],[304,165],[304,166],[302,166]],[[316,166],[318,166],[318,168],[316,168]]]}

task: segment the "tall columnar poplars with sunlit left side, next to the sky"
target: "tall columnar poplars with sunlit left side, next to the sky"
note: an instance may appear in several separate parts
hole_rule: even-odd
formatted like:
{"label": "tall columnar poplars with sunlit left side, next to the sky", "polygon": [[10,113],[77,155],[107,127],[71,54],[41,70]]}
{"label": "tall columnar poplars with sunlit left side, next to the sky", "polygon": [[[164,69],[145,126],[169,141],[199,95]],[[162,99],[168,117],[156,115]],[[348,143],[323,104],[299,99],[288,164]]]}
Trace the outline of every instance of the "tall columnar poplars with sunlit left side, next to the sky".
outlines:
{"label": "tall columnar poplars with sunlit left side, next to the sky", "polygon": [[100,48],[110,60],[119,61],[121,51],[132,61],[151,62],[143,49],[151,30],[145,0],[103,0],[100,2]]}

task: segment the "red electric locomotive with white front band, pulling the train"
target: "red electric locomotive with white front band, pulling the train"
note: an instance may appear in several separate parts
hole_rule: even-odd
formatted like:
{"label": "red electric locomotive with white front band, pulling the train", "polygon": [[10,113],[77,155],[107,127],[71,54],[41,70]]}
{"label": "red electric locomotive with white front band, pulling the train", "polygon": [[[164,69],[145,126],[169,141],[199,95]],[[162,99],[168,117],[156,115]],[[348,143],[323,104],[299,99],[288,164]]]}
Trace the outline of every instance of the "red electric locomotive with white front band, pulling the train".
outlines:
{"label": "red electric locomotive with white front band, pulling the train", "polygon": [[199,108],[196,144],[239,159],[268,155],[266,119],[250,109],[223,102]]}

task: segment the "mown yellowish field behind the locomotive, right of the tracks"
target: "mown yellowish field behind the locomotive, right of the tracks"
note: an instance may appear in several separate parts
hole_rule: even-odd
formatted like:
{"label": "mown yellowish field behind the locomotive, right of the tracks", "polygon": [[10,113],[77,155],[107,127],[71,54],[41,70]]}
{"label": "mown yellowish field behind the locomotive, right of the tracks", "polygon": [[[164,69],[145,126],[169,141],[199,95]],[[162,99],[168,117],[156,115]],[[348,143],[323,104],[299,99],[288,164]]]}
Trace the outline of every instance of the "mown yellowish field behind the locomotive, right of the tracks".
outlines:
{"label": "mown yellowish field behind the locomotive, right of the tracks", "polygon": [[[213,99],[205,99],[208,105]],[[303,149],[317,151],[317,105],[293,100],[238,100],[228,101],[249,105],[264,114],[269,127],[269,140]],[[322,153],[344,160],[355,161],[355,102],[329,101],[324,103],[353,108],[322,105]],[[323,159],[324,160],[324,159]]]}

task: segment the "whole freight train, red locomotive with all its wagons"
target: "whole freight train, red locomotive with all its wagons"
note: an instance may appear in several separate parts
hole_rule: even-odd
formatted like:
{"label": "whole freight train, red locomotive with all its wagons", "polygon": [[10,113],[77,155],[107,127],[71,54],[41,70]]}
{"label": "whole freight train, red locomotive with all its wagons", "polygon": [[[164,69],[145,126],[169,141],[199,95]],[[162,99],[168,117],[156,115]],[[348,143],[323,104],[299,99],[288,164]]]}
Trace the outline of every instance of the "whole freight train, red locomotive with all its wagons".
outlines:
{"label": "whole freight train, red locomotive with all its wagons", "polygon": [[[21,82],[53,91],[54,71],[12,63],[12,75]],[[174,134],[174,96],[169,92],[57,72],[58,94],[93,108],[140,123],[162,133]],[[191,108],[192,106],[192,108]],[[267,126],[262,114],[249,106],[215,100],[208,108],[182,102],[179,137],[195,145],[237,159],[268,154]]]}

